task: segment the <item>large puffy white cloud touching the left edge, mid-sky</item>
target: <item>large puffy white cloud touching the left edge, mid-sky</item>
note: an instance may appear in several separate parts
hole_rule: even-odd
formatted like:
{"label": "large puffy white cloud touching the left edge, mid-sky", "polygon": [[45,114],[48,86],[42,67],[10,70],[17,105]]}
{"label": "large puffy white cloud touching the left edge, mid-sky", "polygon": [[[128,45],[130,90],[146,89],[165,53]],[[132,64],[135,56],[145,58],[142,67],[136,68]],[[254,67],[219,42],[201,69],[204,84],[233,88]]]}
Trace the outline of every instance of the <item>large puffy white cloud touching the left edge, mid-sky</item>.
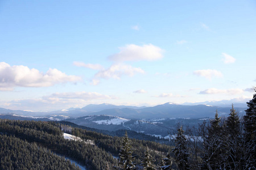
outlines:
{"label": "large puffy white cloud touching the left edge, mid-sky", "polygon": [[0,88],[11,90],[19,87],[48,87],[57,83],[77,82],[79,76],[67,75],[57,69],[49,69],[45,74],[27,66],[10,66],[0,62]]}

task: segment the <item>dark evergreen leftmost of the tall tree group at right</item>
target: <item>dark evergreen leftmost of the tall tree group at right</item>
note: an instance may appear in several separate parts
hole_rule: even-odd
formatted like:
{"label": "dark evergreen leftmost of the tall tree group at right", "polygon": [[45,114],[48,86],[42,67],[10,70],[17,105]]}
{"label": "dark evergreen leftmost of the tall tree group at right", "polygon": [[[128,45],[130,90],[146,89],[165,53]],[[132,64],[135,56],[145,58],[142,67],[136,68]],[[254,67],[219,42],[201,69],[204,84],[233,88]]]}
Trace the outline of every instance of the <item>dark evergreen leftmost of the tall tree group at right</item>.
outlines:
{"label": "dark evergreen leftmost of the tall tree group at right", "polygon": [[187,139],[185,138],[182,126],[177,129],[177,137],[175,139],[175,148],[173,150],[175,155],[175,161],[179,169],[189,168],[189,154],[187,151]]}

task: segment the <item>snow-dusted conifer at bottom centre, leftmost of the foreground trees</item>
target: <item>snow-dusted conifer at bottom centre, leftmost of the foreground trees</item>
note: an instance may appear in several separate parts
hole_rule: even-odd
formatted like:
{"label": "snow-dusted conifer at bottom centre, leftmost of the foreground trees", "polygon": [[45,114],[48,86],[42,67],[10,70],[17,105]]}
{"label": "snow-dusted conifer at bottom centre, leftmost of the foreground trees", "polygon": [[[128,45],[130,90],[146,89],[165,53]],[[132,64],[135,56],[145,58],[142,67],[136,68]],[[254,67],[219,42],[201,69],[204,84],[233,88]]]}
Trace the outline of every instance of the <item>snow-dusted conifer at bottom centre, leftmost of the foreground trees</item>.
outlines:
{"label": "snow-dusted conifer at bottom centre, leftmost of the foreground trees", "polygon": [[126,131],[125,136],[122,139],[122,147],[119,153],[118,167],[115,167],[115,169],[118,169],[118,170],[136,169],[135,165],[133,164],[135,156],[132,156],[133,150],[131,149],[130,143],[131,142],[130,142],[130,139],[128,138],[127,131]]}

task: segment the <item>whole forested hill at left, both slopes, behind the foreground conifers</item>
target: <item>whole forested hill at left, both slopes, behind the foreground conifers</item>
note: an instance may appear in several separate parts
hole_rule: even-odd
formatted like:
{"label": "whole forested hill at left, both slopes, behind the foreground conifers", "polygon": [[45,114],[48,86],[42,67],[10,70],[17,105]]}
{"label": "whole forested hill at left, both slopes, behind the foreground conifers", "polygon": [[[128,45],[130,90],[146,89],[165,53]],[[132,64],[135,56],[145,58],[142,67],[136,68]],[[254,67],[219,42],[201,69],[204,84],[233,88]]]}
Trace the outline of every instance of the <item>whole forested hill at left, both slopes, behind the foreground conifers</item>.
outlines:
{"label": "whole forested hill at left, both slopes, behind the foreground conifers", "polygon": [[[83,141],[92,140],[95,145],[64,139],[61,129],[71,132]],[[60,167],[59,164],[62,166],[60,169],[78,169],[53,152],[76,160],[86,169],[104,169],[106,165],[117,165],[117,159],[113,156],[118,156],[122,145],[121,137],[71,128],[56,122],[16,120],[0,120],[0,141],[0,169],[56,169],[56,166]],[[134,162],[138,165],[141,164],[146,146],[152,150],[155,164],[172,149],[167,145],[137,139],[131,139],[131,143],[134,155],[137,155]]]}

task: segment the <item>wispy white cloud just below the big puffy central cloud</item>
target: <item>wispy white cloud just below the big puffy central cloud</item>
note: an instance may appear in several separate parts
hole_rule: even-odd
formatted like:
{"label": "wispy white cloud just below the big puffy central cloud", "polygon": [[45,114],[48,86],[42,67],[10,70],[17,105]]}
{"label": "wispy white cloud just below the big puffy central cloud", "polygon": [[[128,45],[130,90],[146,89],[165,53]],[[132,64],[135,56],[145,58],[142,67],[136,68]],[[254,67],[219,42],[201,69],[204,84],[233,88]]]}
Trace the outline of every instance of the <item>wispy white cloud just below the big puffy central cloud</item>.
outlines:
{"label": "wispy white cloud just below the big puffy central cloud", "polygon": [[98,73],[95,74],[94,78],[120,79],[123,75],[133,76],[136,73],[144,74],[144,70],[142,70],[141,68],[132,67],[130,65],[118,63],[110,66],[108,69],[98,71]]}

